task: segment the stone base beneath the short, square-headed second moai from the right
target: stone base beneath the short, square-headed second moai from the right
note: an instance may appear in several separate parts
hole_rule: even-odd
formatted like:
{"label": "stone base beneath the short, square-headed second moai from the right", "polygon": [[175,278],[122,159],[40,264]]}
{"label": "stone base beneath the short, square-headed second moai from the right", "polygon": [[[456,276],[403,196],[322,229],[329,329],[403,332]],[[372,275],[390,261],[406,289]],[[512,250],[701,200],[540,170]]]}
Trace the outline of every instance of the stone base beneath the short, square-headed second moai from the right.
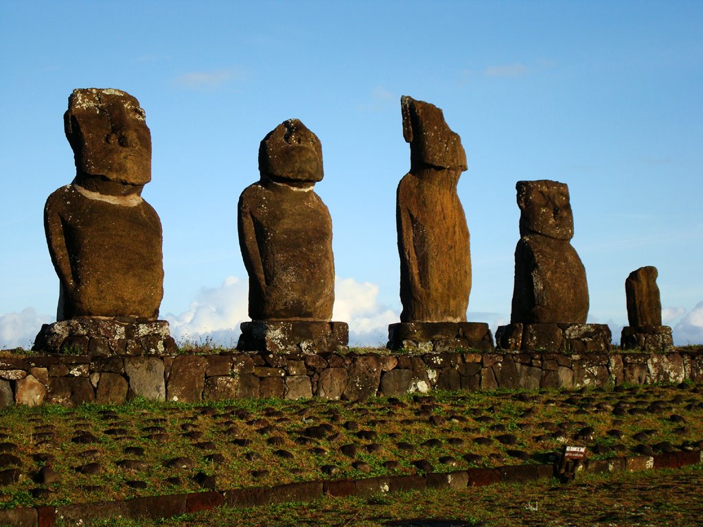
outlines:
{"label": "stone base beneath the short, square-headed second moai from the right", "polygon": [[610,351],[611,342],[607,324],[514,323],[496,331],[496,346],[505,351]]}

